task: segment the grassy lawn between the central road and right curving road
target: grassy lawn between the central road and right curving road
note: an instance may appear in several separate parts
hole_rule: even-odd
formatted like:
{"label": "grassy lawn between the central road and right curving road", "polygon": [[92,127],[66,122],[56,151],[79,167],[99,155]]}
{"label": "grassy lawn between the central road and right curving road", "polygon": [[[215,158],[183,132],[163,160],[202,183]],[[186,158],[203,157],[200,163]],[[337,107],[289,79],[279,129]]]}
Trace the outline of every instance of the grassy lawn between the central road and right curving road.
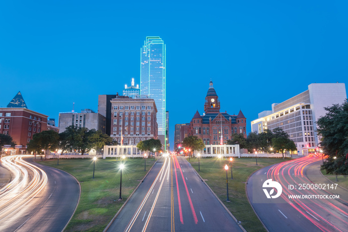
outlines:
{"label": "grassy lawn between the central road and right curving road", "polygon": [[[188,160],[188,159],[187,159]],[[200,174],[206,183],[226,205],[231,213],[242,222],[242,226],[248,232],[265,231],[253,208],[249,204],[246,195],[246,182],[248,177],[256,170],[279,163],[286,159],[280,158],[258,158],[256,165],[255,158],[233,158],[233,180],[231,180],[231,162],[225,158],[200,158],[200,171],[198,171],[198,158],[190,159],[193,168]],[[228,192],[231,202],[226,202],[226,170],[228,164]]]}

